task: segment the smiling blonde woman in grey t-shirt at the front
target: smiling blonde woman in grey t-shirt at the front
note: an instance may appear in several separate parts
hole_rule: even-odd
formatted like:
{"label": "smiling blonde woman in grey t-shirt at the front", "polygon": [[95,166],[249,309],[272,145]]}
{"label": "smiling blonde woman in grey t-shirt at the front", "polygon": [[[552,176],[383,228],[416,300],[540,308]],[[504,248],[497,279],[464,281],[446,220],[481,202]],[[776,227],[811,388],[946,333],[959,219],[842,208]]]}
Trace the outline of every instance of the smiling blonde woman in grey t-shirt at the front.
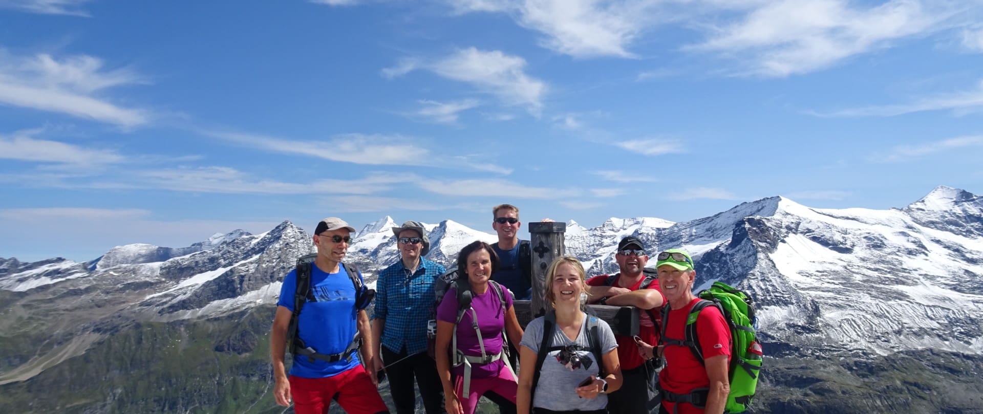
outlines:
{"label": "smiling blonde woman in grey t-shirt at the front", "polygon": [[[587,294],[584,266],[566,256],[556,258],[547,272],[546,300],[555,311],[555,328],[549,339],[549,353],[533,389],[535,368],[543,343],[544,318],[526,326],[519,344],[519,389],[517,414],[589,413],[607,411],[607,392],[621,386],[621,367],[617,342],[610,326],[597,319],[597,342],[587,329],[589,318],[581,310],[580,297]],[[555,349],[558,348],[558,349]],[[599,348],[604,378],[598,378],[600,365],[593,349]],[[526,368],[528,367],[528,368]],[[580,385],[583,384],[583,385]],[[533,396],[535,394],[535,396]]]}

